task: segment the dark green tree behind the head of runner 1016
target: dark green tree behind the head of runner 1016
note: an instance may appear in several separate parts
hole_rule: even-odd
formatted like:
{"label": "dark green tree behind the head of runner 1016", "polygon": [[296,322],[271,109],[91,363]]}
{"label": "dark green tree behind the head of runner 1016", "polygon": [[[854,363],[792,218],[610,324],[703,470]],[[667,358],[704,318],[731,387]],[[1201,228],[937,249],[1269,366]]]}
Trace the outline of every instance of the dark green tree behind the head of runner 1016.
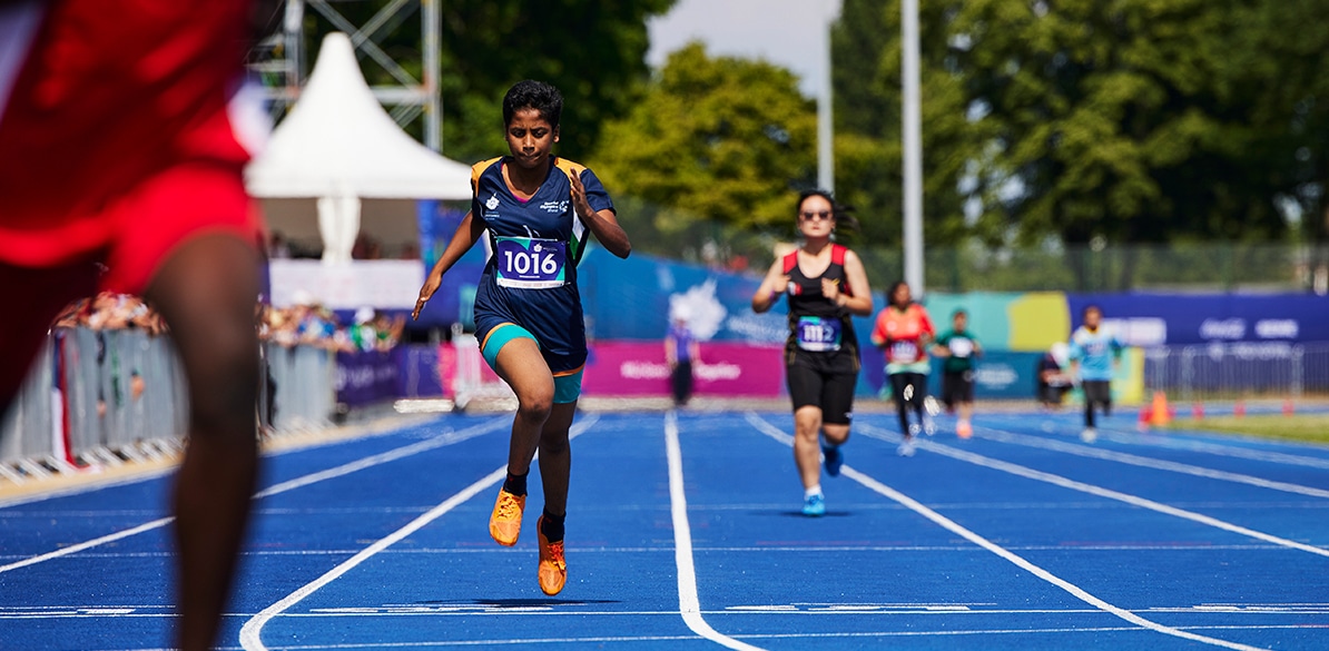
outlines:
{"label": "dark green tree behind the head of runner 1016", "polygon": [[[335,3],[335,8],[350,21],[363,24],[389,1]],[[512,84],[536,78],[563,93],[560,153],[583,158],[599,138],[601,125],[634,104],[641,84],[650,76],[646,19],[663,15],[674,3],[440,3],[444,154],[474,161],[506,151],[502,96]],[[388,54],[407,61],[407,72],[420,78],[419,23],[407,17],[399,16],[375,41]],[[315,11],[306,12],[306,25],[311,48],[336,29]],[[364,62],[361,68],[371,85],[397,84],[376,64]],[[420,132],[419,122],[411,130]]]}

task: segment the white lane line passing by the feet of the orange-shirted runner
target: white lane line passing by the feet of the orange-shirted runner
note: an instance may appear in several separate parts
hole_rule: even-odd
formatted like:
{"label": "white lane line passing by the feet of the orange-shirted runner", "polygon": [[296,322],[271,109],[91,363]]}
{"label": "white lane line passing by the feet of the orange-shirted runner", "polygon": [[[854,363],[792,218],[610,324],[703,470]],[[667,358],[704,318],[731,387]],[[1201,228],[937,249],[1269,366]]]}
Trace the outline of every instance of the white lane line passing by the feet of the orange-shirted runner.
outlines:
{"label": "white lane line passing by the feet of the orange-shirted runner", "polygon": [[[864,436],[867,436],[869,438],[877,438],[877,440],[881,440],[881,441],[894,442],[894,441],[897,441],[900,438],[893,432],[886,432],[886,430],[884,430],[881,428],[876,428],[876,426],[872,426],[872,425],[860,425],[859,426],[859,432],[861,432]],[[1166,504],[1155,502],[1154,500],[1148,500],[1148,498],[1144,498],[1144,497],[1132,496],[1132,494],[1122,493],[1122,492],[1112,490],[1112,489],[1106,489],[1103,486],[1095,486],[1092,484],[1084,484],[1082,481],[1075,481],[1075,480],[1071,480],[1071,478],[1067,478],[1067,477],[1062,477],[1059,474],[1045,473],[1042,470],[1034,470],[1033,468],[1022,466],[1022,465],[1018,465],[1018,464],[1011,464],[1009,461],[1001,461],[1001,460],[995,460],[995,458],[991,458],[991,457],[985,457],[982,454],[974,454],[971,452],[958,450],[956,448],[950,448],[948,445],[942,445],[942,444],[933,442],[933,441],[918,441],[918,448],[929,450],[929,452],[934,452],[937,454],[942,454],[942,456],[946,456],[946,457],[950,457],[950,458],[956,458],[956,460],[960,460],[960,461],[966,461],[969,464],[981,465],[983,468],[991,468],[994,470],[1001,470],[1001,472],[1015,474],[1015,476],[1019,476],[1019,477],[1026,477],[1026,478],[1030,478],[1030,480],[1042,481],[1042,482],[1046,482],[1046,484],[1053,484],[1055,486],[1061,486],[1061,488],[1066,488],[1066,489],[1071,489],[1071,490],[1078,490],[1080,493],[1088,493],[1091,496],[1099,496],[1099,497],[1106,497],[1108,500],[1116,500],[1119,502],[1126,502],[1126,504],[1128,504],[1131,506],[1139,506],[1139,508],[1143,508],[1143,509],[1150,509],[1150,510],[1154,510],[1154,512],[1163,513],[1166,515],[1172,515],[1172,517],[1176,517],[1176,518],[1189,519],[1192,522],[1199,522],[1201,525],[1208,525],[1208,526],[1212,526],[1215,529],[1223,529],[1224,531],[1232,531],[1235,534],[1247,535],[1247,537],[1251,537],[1251,538],[1255,538],[1255,539],[1259,539],[1259,541],[1272,542],[1272,543],[1282,546],[1282,547],[1289,547],[1289,549],[1296,549],[1296,550],[1301,550],[1301,551],[1308,551],[1310,554],[1316,554],[1316,555],[1321,555],[1321,557],[1329,558],[1329,550],[1326,550],[1324,547],[1317,547],[1314,545],[1306,545],[1306,543],[1297,542],[1297,541],[1289,541],[1286,538],[1280,538],[1277,535],[1267,534],[1264,531],[1256,531],[1255,529],[1248,529],[1248,527],[1244,527],[1244,526],[1240,526],[1240,525],[1233,525],[1231,522],[1225,522],[1225,521],[1221,521],[1219,518],[1212,518],[1209,515],[1204,515],[1204,514],[1200,514],[1200,513],[1188,512],[1185,509],[1177,509],[1176,506],[1168,506]]]}

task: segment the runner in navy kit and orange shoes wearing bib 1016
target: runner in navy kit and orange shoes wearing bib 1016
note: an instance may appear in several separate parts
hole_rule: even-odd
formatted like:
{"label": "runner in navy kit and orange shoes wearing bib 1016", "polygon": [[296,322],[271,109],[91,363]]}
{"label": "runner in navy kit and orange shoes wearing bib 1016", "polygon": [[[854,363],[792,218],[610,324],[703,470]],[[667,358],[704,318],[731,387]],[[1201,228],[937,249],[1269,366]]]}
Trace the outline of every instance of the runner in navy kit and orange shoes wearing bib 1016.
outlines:
{"label": "runner in navy kit and orange shoes wearing bib 1016", "polygon": [[549,84],[528,80],[508,90],[502,114],[512,155],[472,166],[470,213],[425,279],[412,312],[419,318],[443,274],[488,236],[492,255],[476,288],[476,337],[485,361],[517,395],[508,478],[489,518],[489,535],[498,545],[517,543],[526,474],[538,449],[545,508],[536,522],[537,577],[548,595],[558,594],[567,581],[567,429],[586,364],[586,327],[577,291],[585,231],[619,258],[627,258],[633,248],[595,174],[550,155],[558,142],[562,106],[562,96]]}

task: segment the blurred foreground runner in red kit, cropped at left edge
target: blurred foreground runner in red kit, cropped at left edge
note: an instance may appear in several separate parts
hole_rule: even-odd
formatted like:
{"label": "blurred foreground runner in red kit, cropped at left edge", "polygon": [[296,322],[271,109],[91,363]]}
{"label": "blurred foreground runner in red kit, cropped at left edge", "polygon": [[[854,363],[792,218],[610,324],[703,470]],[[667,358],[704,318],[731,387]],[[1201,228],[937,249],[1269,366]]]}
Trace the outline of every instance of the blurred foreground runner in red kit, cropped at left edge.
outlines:
{"label": "blurred foreground runner in red kit, cropped at left edge", "polygon": [[144,294],[189,380],[175,646],[215,642],[256,480],[259,223],[231,132],[249,0],[0,1],[0,408],[52,318]]}

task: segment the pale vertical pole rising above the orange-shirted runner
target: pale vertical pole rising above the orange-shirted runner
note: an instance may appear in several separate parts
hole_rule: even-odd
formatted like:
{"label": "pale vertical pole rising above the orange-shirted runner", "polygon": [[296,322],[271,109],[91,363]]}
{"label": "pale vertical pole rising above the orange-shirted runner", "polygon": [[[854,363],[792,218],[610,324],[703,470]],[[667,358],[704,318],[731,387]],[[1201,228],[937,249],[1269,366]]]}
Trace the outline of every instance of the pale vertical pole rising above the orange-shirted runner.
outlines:
{"label": "pale vertical pole rising above the orange-shirted runner", "polygon": [[918,101],[918,0],[901,3],[904,86],[905,282],[914,296],[922,284],[922,120]]}

